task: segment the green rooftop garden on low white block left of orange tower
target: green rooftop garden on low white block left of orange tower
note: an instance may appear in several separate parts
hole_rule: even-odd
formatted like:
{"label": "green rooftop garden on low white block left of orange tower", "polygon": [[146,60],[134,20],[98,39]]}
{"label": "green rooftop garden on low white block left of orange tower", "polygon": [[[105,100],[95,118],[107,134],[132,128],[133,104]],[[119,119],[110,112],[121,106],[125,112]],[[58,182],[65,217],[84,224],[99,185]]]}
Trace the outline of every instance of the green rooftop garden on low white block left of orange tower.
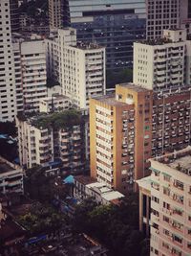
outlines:
{"label": "green rooftop garden on low white block left of orange tower", "polygon": [[76,109],[69,109],[49,115],[39,116],[33,121],[37,128],[72,128],[81,122],[81,114]]}

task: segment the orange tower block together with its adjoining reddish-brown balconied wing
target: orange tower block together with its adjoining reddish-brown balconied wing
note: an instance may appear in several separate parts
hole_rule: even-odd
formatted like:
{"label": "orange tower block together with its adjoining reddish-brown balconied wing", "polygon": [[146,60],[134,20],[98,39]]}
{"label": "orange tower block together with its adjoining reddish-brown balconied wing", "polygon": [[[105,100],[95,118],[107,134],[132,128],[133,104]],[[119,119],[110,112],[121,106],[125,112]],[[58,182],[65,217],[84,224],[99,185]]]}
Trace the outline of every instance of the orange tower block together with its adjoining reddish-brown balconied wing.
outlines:
{"label": "orange tower block together with its adjoining reddish-brown balconied wing", "polygon": [[137,190],[150,157],[190,145],[190,97],[189,86],[159,95],[130,83],[91,99],[91,175],[123,194]]}

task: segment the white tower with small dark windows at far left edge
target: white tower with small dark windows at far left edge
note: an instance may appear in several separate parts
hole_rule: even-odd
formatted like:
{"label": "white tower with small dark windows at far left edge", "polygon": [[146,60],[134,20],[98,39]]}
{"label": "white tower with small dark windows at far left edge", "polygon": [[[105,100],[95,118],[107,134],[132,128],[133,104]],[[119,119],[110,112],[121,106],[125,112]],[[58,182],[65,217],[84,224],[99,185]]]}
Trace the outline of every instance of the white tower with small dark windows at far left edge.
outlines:
{"label": "white tower with small dark windows at far left edge", "polygon": [[11,44],[10,1],[0,1],[0,121],[16,115],[14,62]]}

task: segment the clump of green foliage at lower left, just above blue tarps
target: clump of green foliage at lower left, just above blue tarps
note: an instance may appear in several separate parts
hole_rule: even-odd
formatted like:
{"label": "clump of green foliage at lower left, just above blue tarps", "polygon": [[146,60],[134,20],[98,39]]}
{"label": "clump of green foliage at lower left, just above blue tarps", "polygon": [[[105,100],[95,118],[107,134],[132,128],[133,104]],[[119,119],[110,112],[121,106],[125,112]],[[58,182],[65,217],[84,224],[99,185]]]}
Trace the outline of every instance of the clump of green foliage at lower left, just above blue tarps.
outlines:
{"label": "clump of green foliage at lower left, just above blue tarps", "polygon": [[53,207],[39,202],[33,203],[29,213],[20,216],[17,221],[31,234],[57,229],[66,222],[63,215],[57,213]]}

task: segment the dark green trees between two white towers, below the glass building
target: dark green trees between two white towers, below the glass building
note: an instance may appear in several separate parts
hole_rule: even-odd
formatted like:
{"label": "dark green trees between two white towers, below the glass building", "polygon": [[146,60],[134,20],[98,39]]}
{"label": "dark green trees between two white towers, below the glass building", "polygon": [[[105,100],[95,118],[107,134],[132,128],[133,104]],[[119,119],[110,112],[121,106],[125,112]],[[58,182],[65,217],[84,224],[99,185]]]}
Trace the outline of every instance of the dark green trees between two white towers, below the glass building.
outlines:
{"label": "dark green trees between two white towers, below the glass building", "polygon": [[132,82],[133,71],[129,68],[124,68],[118,72],[108,70],[106,74],[106,84],[108,88],[113,88],[118,83]]}

